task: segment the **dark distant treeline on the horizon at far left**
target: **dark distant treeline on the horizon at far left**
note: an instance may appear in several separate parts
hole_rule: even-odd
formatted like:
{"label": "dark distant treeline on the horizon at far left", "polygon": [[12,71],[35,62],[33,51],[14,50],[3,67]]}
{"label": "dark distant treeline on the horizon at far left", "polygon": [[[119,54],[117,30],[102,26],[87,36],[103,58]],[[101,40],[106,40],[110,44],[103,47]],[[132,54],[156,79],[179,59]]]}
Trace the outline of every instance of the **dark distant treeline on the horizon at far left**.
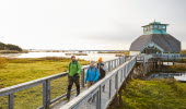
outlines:
{"label": "dark distant treeline on the horizon at far left", "polygon": [[14,50],[19,52],[23,51],[22,48],[16,45],[3,44],[3,43],[0,43],[0,50]]}

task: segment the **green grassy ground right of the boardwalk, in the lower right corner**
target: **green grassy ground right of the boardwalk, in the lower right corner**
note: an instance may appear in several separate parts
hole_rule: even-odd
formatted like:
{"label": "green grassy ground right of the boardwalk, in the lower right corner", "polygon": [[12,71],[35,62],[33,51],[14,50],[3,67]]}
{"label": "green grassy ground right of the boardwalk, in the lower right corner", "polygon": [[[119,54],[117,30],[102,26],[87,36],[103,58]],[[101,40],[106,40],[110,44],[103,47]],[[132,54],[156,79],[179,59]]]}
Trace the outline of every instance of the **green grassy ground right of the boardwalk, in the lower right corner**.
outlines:
{"label": "green grassy ground right of the boardwalk, in the lower right corner", "polygon": [[186,83],[174,80],[132,80],[115,109],[186,109]]}

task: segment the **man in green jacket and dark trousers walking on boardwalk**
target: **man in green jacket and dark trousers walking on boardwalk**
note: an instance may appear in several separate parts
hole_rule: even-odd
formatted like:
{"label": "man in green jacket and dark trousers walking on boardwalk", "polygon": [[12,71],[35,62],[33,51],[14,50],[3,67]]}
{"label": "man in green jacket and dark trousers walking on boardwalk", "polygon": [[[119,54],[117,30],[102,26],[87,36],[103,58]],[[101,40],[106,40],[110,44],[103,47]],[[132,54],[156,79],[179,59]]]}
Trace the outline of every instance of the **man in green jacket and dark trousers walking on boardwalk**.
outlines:
{"label": "man in green jacket and dark trousers walking on boardwalk", "polygon": [[68,73],[68,89],[66,100],[70,100],[70,94],[73,83],[77,86],[77,96],[80,94],[80,73],[81,64],[75,60],[74,56],[71,56],[71,62],[69,63],[69,73]]}

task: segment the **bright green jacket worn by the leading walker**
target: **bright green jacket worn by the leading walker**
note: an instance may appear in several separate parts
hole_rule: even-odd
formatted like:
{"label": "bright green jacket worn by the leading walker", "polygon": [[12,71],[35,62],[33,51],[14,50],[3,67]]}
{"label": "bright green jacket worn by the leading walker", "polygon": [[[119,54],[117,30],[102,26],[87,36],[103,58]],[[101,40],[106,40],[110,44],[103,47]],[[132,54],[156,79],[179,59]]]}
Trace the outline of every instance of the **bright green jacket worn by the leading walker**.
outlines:
{"label": "bright green jacket worn by the leading walker", "polygon": [[75,73],[81,73],[81,64],[78,61],[69,63],[69,76],[73,76]]}

